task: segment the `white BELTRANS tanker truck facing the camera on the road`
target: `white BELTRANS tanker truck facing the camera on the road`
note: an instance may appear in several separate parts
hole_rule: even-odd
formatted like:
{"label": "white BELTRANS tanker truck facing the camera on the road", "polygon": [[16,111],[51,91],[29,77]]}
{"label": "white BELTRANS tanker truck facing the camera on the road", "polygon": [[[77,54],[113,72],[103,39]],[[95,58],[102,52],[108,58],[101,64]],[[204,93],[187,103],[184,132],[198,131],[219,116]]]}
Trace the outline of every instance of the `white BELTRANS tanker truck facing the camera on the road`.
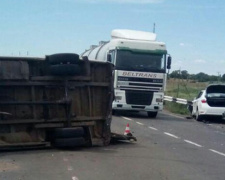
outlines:
{"label": "white BELTRANS tanker truck facing the camera on the road", "polygon": [[115,29],[110,41],[100,41],[81,54],[91,60],[114,64],[113,113],[145,111],[156,117],[163,109],[171,56],[166,45],[151,32]]}

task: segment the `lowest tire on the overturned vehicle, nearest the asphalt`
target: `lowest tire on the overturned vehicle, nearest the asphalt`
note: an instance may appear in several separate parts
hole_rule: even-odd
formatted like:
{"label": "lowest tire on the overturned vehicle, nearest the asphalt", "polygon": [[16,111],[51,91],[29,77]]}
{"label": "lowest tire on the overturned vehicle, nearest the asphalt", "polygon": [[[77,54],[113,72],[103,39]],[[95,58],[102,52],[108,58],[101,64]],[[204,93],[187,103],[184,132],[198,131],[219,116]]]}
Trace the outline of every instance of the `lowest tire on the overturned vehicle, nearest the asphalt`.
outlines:
{"label": "lowest tire on the overturned vehicle, nearest the asphalt", "polygon": [[80,138],[58,138],[54,140],[55,147],[78,147],[85,145],[85,139]]}

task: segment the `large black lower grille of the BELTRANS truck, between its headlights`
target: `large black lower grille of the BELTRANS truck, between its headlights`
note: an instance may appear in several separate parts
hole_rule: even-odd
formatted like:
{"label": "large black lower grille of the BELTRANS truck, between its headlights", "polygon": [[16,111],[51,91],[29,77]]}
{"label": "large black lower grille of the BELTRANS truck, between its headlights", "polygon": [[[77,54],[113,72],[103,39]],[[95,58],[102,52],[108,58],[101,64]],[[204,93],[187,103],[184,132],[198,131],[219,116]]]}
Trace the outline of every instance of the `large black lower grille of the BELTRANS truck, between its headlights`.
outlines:
{"label": "large black lower grille of the BELTRANS truck, between its headlights", "polygon": [[151,105],[153,92],[126,91],[127,104]]}

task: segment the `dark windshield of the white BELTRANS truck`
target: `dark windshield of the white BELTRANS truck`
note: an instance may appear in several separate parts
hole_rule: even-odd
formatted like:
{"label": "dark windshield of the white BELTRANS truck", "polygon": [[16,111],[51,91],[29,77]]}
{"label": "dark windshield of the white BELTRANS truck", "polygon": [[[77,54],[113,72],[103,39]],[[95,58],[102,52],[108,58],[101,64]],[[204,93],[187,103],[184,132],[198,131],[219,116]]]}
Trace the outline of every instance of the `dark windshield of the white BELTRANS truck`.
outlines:
{"label": "dark windshield of the white BELTRANS truck", "polygon": [[116,69],[144,71],[144,72],[166,72],[165,54],[139,53],[127,50],[117,50]]}

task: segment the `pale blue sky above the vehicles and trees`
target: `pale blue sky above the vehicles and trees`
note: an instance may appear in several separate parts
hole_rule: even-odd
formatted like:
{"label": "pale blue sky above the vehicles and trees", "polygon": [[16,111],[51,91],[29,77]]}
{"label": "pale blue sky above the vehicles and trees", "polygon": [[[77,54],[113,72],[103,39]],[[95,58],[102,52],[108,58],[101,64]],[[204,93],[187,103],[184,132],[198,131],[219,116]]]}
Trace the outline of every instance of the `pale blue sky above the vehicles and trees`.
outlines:
{"label": "pale blue sky above the vehicles and trees", "polygon": [[173,70],[225,74],[222,0],[0,0],[0,56],[82,53],[113,29],[152,31]]}

